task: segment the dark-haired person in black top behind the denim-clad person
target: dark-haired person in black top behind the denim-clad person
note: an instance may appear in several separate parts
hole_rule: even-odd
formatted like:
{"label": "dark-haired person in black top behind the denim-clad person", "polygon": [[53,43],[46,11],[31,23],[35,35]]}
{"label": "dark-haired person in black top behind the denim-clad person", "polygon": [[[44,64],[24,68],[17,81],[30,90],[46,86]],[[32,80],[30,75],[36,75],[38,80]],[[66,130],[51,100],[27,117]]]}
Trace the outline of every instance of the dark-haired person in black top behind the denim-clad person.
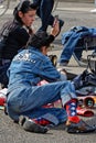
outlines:
{"label": "dark-haired person in black top behind the denim-clad person", "polygon": [[33,32],[36,6],[29,0],[21,1],[13,11],[13,20],[7,22],[1,32],[0,40],[4,41],[0,47],[0,82],[7,87],[7,69],[15,54],[23,47]]}

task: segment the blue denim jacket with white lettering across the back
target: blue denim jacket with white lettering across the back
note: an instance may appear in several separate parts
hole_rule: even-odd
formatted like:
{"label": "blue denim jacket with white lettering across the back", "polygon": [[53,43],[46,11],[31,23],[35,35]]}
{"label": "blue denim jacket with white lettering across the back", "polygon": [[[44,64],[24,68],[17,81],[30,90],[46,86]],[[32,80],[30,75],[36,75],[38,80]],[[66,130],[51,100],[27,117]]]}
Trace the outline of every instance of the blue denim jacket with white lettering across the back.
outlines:
{"label": "blue denim jacket with white lettering across the back", "polygon": [[19,84],[35,86],[43,79],[53,82],[61,78],[61,74],[52,65],[50,58],[31,46],[14,56],[8,75],[9,90],[17,88]]}

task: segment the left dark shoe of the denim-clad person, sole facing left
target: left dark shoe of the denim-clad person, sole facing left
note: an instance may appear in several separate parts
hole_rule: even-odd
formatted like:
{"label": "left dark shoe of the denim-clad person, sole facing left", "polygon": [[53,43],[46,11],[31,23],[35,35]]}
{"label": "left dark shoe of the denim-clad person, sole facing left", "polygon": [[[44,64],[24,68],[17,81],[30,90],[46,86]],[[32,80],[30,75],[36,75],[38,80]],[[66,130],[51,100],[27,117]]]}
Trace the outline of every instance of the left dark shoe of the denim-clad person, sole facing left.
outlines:
{"label": "left dark shoe of the denim-clad person, sole facing left", "polygon": [[49,129],[46,127],[42,127],[40,124],[36,124],[33,122],[31,119],[24,116],[20,116],[19,118],[19,124],[29,132],[34,132],[34,133],[46,133]]}

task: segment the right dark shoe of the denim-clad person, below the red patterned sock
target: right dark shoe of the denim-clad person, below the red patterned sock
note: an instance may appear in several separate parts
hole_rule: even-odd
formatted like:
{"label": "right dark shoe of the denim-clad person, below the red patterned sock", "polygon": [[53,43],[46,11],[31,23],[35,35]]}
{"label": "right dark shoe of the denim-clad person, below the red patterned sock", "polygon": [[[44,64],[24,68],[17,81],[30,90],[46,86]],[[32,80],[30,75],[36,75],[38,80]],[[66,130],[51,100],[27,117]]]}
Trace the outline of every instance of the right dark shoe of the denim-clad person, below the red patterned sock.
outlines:
{"label": "right dark shoe of the denim-clad person, below the red patterned sock", "polygon": [[88,125],[83,120],[81,120],[78,123],[67,121],[65,130],[68,133],[89,133],[94,132],[96,130],[96,127]]}

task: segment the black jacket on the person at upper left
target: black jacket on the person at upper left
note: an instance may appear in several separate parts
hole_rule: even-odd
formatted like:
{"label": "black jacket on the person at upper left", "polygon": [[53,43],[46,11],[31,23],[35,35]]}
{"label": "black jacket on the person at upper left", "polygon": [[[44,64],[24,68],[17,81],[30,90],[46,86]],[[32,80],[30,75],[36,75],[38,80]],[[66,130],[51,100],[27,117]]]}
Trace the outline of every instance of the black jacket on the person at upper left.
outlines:
{"label": "black jacket on the person at upper left", "polygon": [[0,33],[0,38],[6,38],[1,55],[4,59],[12,59],[21,47],[25,46],[30,37],[29,29],[22,26],[17,21],[7,22],[4,25]]}

